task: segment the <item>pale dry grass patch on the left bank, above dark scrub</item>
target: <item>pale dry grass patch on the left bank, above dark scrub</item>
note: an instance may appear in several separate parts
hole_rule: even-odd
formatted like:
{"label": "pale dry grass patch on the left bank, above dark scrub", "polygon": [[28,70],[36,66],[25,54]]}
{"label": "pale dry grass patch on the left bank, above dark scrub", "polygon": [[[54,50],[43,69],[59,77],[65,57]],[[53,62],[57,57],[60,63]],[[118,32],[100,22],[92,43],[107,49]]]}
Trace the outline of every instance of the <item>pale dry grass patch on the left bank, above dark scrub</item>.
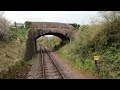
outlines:
{"label": "pale dry grass patch on the left bank, above dark scrub", "polygon": [[12,42],[0,42],[0,71],[7,70],[21,60],[23,54],[23,45],[17,39]]}

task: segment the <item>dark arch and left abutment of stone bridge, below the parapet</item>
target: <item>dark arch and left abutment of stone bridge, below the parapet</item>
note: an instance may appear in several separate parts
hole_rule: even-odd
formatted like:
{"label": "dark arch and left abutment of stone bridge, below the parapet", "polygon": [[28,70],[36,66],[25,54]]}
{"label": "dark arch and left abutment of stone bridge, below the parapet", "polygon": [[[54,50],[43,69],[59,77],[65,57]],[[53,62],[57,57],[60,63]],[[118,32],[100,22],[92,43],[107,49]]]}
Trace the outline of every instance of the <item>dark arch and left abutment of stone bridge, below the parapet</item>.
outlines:
{"label": "dark arch and left abutment of stone bridge, below the parapet", "polygon": [[42,36],[45,35],[54,35],[56,37],[59,37],[62,42],[60,43],[59,46],[57,46],[58,50],[60,47],[64,46],[65,44],[70,42],[70,38],[68,37],[67,33],[60,33],[60,32],[56,32],[56,31],[47,31],[47,32],[41,32],[41,30],[38,31],[29,31],[28,32],[28,38],[26,41],[26,51],[25,51],[25,60],[30,60],[32,59],[33,55],[35,55],[37,53],[37,42],[36,40]]}

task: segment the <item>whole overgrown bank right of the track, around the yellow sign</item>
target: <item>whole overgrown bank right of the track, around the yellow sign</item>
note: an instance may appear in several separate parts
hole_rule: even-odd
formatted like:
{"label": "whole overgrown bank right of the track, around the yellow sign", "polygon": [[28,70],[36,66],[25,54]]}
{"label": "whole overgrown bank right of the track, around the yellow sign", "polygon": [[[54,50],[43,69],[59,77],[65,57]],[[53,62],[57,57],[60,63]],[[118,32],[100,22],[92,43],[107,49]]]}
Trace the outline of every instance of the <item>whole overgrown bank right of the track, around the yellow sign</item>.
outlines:
{"label": "whole overgrown bank right of the track, around the yellow sign", "polygon": [[[77,69],[91,72],[102,79],[120,78],[119,23],[107,22],[102,25],[88,25],[78,30],[75,40],[64,46],[58,54],[69,60]],[[100,56],[98,70],[93,57]]]}

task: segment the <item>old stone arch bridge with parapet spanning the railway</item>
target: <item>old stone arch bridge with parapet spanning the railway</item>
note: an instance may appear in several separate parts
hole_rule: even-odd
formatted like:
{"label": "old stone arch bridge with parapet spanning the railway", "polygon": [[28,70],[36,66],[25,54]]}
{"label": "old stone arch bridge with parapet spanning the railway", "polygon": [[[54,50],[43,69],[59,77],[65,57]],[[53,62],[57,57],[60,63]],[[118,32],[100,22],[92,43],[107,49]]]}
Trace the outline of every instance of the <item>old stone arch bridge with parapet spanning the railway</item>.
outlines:
{"label": "old stone arch bridge with parapet spanning the railway", "polygon": [[31,22],[31,28],[26,40],[25,60],[32,59],[37,51],[36,40],[44,35],[55,35],[68,42],[73,39],[75,28],[70,24],[55,22]]}

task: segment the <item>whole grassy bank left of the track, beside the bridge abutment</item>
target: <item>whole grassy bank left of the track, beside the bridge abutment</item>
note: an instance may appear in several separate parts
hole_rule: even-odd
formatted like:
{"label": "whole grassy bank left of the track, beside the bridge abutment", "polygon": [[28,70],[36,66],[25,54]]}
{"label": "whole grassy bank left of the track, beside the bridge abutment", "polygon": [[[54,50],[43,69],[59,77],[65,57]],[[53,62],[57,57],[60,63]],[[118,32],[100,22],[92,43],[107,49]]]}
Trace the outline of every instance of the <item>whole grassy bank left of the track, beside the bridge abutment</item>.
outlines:
{"label": "whole grassy bank left of the track, beside the bridge abutment", "polygon": [[0,78],[26,78],[30,62],[23,60],[27,29],[11,29],[7,41],[0,42]]}

